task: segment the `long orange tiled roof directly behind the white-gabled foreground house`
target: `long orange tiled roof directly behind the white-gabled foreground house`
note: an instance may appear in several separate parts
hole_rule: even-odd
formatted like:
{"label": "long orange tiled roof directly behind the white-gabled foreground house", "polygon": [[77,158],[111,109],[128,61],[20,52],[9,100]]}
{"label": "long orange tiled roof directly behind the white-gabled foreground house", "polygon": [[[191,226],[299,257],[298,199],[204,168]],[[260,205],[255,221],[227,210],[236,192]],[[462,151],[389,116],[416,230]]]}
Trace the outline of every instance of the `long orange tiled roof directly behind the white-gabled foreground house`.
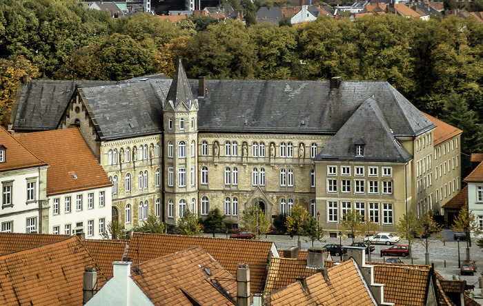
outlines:
{"label": "long orange tiled roof directly behind the white-gabled foreground house", "polygon": [[134,233],[129,242],[128,257],[137,263],[195,245],[202,247],[233,275],[238,263],[248,263],[252,292],[261,292],[268,258],[274,255],[270,252],[274,245],[272,241]]}

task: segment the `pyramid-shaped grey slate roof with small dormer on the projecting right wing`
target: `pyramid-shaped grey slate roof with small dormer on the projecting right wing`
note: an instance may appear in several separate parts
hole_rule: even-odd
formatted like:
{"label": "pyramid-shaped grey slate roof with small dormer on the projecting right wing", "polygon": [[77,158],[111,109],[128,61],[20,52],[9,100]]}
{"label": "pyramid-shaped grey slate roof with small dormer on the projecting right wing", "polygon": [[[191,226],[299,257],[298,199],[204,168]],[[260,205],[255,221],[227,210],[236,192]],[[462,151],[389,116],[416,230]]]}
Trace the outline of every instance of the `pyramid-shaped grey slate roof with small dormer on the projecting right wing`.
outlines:
{"label": "pyramid-shaped grey slate roof with small dormer on the projecting right wing", "polygon": [[[355,146],[364,145],[364,156],[355,156]],[[406,162],[411,154],[395,139],[379,106],[368,99],[315,156],[325,159]]]}

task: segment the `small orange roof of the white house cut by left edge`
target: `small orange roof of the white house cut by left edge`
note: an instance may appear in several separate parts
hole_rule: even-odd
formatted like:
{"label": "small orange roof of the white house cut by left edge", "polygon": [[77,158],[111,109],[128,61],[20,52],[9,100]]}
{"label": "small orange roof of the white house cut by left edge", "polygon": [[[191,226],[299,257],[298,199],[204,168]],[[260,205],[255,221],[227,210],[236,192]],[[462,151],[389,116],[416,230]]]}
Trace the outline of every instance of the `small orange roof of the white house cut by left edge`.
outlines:
{"label": "small orange roof of the white house cut by left edge", "polygon": [[3,128],[0,128],[0,145],[5,150],[5,162],[0,163],[0,171],[47,165]]}

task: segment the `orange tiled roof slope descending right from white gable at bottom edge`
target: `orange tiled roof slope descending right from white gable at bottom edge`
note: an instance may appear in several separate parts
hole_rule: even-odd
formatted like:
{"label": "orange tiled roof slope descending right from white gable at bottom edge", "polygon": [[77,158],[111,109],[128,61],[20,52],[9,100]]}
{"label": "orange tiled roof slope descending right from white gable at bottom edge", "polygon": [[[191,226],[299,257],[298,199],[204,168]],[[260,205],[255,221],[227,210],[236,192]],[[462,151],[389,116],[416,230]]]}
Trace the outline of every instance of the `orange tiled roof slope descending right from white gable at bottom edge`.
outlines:
{"label": "orange tiled roof slope descending right from white gable at bottom edge", "polygon": [[217,285],[237,296],[235,278],[199,246],[134,265],[131,278],[154,305],[192,305],[187,296],[196,305],[234,305]]}

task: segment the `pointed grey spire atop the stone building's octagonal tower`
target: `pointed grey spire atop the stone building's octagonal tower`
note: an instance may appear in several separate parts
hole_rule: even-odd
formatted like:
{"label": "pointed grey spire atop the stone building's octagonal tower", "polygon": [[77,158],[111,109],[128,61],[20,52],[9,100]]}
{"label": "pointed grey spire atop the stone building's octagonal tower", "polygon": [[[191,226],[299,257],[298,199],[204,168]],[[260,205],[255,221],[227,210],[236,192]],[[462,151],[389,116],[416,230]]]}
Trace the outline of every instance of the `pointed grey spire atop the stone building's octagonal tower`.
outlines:
{"label": "pointed grey spire atop the stone building's octagonal tower", "polygon": [[191,105],[195,103],[195,98],[193,98],[193,93],[191,92],[190,85],[188,84],[188,78],[186,78],[186,73],[184,72],[183,64],[181,64],[181,59],[178,61],[176,67],[175,76],[172,77],[171,87],[166,96],[166,101],[172,101],[172,105],[175,110],[181,103],[186,105],[186,108],[190,110]]}

